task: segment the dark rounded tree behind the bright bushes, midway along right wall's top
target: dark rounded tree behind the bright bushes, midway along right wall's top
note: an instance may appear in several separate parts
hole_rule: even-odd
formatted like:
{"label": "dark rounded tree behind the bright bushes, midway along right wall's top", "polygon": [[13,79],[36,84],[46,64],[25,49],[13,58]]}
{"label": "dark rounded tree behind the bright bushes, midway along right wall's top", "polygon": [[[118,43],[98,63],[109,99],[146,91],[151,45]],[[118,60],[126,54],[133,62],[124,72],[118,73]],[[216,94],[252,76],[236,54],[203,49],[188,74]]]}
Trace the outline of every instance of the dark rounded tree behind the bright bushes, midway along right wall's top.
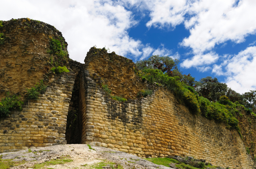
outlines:
{"label": "dark rounded tree behind the bright bushes, midway along right wall's top", "polygon": [[195,82],[195,90],[199,96],[203,96],[210,101],[218,101],[220,96],[227,92],[227,84],[220,83],[216,77],[207,76]]}

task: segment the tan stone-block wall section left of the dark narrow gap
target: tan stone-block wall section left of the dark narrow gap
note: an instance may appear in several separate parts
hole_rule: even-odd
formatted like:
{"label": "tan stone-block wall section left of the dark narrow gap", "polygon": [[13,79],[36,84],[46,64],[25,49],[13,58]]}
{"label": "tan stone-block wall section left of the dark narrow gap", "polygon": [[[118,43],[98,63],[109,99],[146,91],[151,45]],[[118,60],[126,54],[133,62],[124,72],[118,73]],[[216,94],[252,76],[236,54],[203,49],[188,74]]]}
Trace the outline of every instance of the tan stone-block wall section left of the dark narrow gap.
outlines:
{"label": "tan stone-block wall section left of the dark narrow gap", "polygon": [[22,111],[12,111],[9,117],[0,120],[1,153],[66,144],[65,131],[68,107],[75,74],[62,73],[52,79],[38,100],[29,100]]}

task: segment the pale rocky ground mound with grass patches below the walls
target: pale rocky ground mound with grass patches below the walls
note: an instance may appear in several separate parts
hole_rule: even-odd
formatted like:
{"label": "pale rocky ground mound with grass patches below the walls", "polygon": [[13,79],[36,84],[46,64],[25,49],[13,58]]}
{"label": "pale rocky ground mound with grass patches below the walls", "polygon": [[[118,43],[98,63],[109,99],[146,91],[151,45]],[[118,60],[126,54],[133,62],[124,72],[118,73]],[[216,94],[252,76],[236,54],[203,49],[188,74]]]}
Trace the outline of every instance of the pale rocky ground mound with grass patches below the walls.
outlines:
{"label": "pale rocky ground mound with grass patches below the walls", "polygon": [[0,168],[4,168],[4,162],[8,162],[10,166],[17,165],[11,169],[172,169],[128,153],[98,146],[88,147],[86,144],[65,144],[1,153],[0,157]]}

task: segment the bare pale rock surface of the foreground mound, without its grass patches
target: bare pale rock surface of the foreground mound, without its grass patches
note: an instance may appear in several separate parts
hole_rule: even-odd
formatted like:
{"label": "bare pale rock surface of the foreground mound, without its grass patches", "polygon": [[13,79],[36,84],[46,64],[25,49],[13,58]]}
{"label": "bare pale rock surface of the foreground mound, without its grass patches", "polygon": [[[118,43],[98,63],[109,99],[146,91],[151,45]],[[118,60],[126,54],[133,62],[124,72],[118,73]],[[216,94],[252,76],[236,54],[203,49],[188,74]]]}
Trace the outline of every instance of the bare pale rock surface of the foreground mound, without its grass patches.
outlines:
{"label": "bare pale rock surface of the foreground mound, without its grass patches", "polygon": [[[25,164],[12,167],[12,169],[33,168],[35,164],[43,163],[45,161],[50,161],[54,159],[59,159],[63,156],[73,160],[73,162],[58,165],[48,165],[47,168],[68,169],[78,167],[86,169],[90,168],[90,165],[102,162],[103,160],[107,160],[109,162],[114,162],[118,165],[122,165],[124,169],[133,167],[136,169],[172,169],[169,167],[164,167],[163,165],[154,164],[152,162],[144,160],[143,158],[128,153],[124,153],[122,151],[112,150],[98,146],[91,146],[91,148],[93,148],[94,150],[89,149],[89,147],[85,144],[65,144],[59,146],[32,149],[32,154],[35,155],[33,156],[33,160],[35,161],[26,162]],[[22,150],[12,154],[2,153],[0,155],[3,155],[3,159],[14,159],[13,161],[17,161],[17,159],[21,159],[17,158],[20,156],[25,156],[23,157],[23,159],[29,160],[32,154],[28,153],[28,150]]]}

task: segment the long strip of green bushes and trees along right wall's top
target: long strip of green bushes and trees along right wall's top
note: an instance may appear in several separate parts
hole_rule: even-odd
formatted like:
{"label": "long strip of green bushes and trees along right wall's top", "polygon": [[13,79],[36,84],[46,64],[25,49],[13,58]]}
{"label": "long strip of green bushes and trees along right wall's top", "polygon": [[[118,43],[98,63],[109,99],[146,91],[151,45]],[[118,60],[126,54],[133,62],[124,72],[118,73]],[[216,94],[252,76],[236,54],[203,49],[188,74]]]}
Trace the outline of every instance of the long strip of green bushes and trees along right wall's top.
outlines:
{"label": "long strip of green bushes and trees along right wall's top", "polygon": [[[148,60],[136,62],[136,66],[141,71],[141,73],[137,72],[136,74],[144,82],[159,83],[172,91],[178,101],[187,106],[191,113],[201,114],[210,120],[214,119],[216,122],[223,122],[227,128],[237,129],[240,134],[236,116],[243,109],[253,114],[256,91],[248,93],[246,100],[250,102],[247,101],[246,105],[242,105],[240,103],[245,103],[243,99],[245,96],[242,97],[233,90],[228,90],[225,83],[220,83],[212,77],[202,78],[199,82],[194,82],[194,78],[191,78],[190,75],[179,76],[181,73],[177,69],[177,64],[178,60],[173,61],[157,55],[151,56]],[[227,93],[227,91],[229,92]],[[233,103],[230,99],[235,102]]]}

